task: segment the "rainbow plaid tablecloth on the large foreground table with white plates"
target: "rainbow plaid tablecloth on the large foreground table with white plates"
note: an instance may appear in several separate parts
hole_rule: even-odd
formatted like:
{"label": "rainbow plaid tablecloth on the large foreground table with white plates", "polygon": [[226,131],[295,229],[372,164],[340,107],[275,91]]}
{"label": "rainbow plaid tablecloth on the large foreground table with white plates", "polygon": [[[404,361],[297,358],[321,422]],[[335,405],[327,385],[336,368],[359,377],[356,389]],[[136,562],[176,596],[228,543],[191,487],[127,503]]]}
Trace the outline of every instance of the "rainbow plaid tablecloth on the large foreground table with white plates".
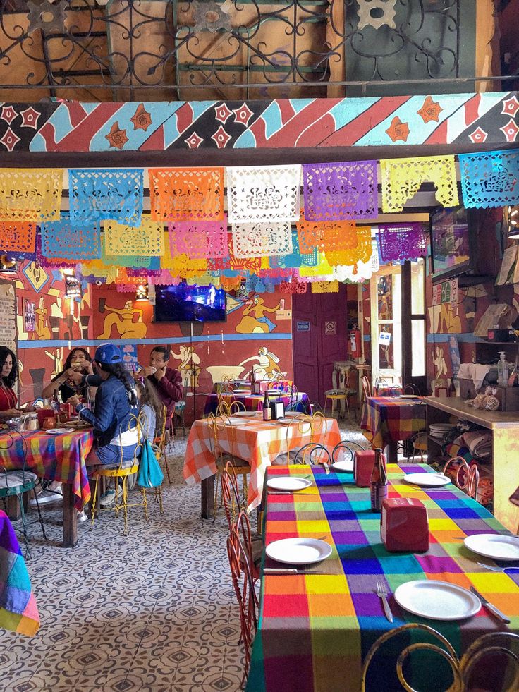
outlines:
{"label": "rainbow plaid tablecloth on the large foreground table with white plates", "polygon": [[[431,470],[425,464],[405,466],[405,473]],[[391,624],[374,593],[377,580],[391,594],[398,585],[415,579],[438,579],[465,588],[474,585],[511,618],[509,629],[519,633],[519,571],[496,573],[478,566],[477,561],[484,559],[458,538],[508,533],[484,507],[454,485],[427,491],[406,485],[402,469],[390,464],[389,497],[422,500],[429,514],[430,545],[425,554],[389,553],[380,539],[380,514],[370,509],[370,489],[355,487],[352,475],[325,475],[324,469],[315,466],[288,470],[273,466],[267,476],[310,471],[317,487],[286,496],[267,495],[265,542],[297,536],[324,538],[333,553],[319,568],[328,570],[329,566],[333,573],[262,578],[248,692],[358,691],[362,660],[371,645],[384,631],[405,622],[429,624],[451,641],[458,655],[481,634],[506,630],[483,608],[462,622],[433,621],[400,609],[392,596]],[[393,660],[393,674],[394,669]],[[398,681],[393,686],[385,667],[370,670],[374,676],[370,690],[401,689]],[[439,689],[437,678],[428,674],[428,679],[430,689]],[[427,684],[420,687],[427,689]]]}

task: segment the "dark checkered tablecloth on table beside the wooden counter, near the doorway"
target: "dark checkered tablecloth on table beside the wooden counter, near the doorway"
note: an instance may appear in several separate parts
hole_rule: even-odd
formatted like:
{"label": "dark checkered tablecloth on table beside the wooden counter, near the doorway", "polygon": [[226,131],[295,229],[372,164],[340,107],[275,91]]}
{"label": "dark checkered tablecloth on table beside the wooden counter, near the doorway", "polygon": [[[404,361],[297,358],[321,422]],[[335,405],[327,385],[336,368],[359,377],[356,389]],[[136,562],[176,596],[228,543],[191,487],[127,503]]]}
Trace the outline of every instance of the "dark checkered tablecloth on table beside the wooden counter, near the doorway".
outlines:
{"label": "dark checkered tablecloth on table beside the wooden counter, near the doorway", "polygon": [[384,449],[389,442],[409,439],[426,429],[425,403],[422,399],[400,396],[368,396],[362,408],[360,427],[373,449]]}

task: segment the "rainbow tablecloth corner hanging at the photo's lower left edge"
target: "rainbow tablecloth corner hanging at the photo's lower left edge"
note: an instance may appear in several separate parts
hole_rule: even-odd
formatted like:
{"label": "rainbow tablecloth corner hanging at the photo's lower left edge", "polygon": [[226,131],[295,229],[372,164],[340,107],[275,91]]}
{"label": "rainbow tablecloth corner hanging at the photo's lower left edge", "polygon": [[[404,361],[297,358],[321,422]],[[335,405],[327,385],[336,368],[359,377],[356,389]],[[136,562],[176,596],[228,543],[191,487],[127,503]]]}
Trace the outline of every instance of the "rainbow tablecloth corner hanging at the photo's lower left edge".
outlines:
{"label": "rainbow tablecloth corner hanging at the photo's lower left edge", "polygon": [[32,636],[39,613],[11,521],[0,509],[0,627]]}

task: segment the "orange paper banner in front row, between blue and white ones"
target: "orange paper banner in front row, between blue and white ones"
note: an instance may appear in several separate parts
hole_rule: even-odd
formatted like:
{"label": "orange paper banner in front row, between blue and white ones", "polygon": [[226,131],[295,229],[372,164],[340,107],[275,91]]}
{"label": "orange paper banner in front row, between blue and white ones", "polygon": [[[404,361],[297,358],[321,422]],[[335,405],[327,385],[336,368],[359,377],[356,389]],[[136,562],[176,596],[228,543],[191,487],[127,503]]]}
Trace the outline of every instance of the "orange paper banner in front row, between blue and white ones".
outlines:
{"label": "orange paper banner in front row, between blue and white ones", "polygon": [[155,221],[223,221],[224,169],[149,169]]}

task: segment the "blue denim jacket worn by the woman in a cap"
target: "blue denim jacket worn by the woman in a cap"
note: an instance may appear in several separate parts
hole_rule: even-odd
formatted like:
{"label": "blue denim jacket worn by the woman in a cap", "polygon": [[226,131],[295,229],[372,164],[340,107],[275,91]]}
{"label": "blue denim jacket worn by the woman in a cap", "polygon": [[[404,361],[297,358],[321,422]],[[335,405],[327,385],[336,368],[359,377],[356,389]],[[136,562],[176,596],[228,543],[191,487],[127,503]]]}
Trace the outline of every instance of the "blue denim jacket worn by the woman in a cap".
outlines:
{"label": "blue denim jacket worn by the woman in a cap", "polygon": [[131,406],[128,391],[121,380],[113,375],[108,380],[102,380],[99,375],[87,375],[85,381],[90,387],[97,387],[95,411],[83,404],[77,408],[80,417],[94,426],[99,446],[109,444],[120,432],[135,427],[139,408]]}

